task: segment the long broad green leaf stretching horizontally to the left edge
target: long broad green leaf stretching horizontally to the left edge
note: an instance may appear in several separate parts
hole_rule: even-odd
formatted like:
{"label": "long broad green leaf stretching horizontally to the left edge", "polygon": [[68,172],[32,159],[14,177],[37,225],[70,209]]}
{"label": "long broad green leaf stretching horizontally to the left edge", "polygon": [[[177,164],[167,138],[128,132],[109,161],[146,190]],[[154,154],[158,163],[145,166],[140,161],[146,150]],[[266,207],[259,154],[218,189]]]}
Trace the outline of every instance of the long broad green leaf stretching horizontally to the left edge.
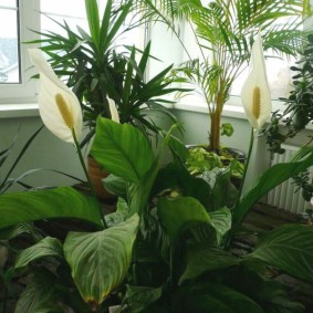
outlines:
{"label": "long broad green leaf stretching horizontally to the left edge", "polygon": [[52,218],[75,218],[102,226],[97,201],[71,187],[1,195],[0,216],[0,229]]}

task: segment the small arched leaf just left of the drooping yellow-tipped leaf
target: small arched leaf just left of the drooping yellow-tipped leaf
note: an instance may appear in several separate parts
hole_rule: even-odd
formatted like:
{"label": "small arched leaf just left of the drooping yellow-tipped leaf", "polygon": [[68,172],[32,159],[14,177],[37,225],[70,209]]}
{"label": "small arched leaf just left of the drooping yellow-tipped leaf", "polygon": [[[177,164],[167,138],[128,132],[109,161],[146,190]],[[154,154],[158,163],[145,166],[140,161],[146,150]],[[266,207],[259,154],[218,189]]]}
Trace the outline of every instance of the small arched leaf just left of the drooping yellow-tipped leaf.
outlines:
{"label": "small arched leaf just left of the drooping yellow-tipped leaf", "polygon": [[63,257],[62,243],[59,239],[45,237],[30,248],[22,250],[17,257],[14,268],[27,267],[30,262],[44,257]]}

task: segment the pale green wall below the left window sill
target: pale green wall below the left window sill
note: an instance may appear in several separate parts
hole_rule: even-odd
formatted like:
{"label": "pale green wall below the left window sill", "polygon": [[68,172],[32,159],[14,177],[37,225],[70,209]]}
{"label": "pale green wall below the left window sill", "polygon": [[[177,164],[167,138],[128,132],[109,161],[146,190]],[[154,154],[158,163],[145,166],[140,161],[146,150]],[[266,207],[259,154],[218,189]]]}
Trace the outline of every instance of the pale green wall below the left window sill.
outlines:
{"label": "pale green wall below the left window sill", "polygon": [[[0,118],[0,152],[11,145],[20,128],[12,155],[10,155],[4,166],[0,168],[1,179],[3,179],[8,173],[8,169],[13,164],[28,138],[39,129],[41,125],[42,122],[39,117]],[[34,168],[54,169],[71,174],[75,177],[84,177],[73,145],[60,140],[46,128],[43,128],[33,140],[11,177],[18,177],[24,171]],[[23,181],[35,187],[72,185],[75,182],[64,176],[46,170],[33,174]],[[20,188],[15,187],[12,190],[19,189]]]}

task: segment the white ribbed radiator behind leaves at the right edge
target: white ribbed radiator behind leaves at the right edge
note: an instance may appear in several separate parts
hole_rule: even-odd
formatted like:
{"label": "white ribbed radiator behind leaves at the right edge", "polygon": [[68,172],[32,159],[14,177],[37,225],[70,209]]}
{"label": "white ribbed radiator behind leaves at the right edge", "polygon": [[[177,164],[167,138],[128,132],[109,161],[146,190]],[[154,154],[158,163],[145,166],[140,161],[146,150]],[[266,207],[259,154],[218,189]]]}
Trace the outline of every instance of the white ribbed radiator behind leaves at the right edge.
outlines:
{"label": "white ribbed radiator behind leaves at the right edge", "polygon": [[[272,165],[288,161],[290,157],[299,149],[299,147],[286,145],[283,145],[282,147],[285,149],[285,153],[282,155],[274,154],[271,163]],[[310,176],[312,178],[312,168],[310,169]],[[310,205],[302,198],[301,189],[298,189],[299,187],[295,186],[293,179],[289,179],[270,191],[268,194],[267,201],[271,206],[274,206],[279,209],[284,209],[290,212],[305,212]],[[295,192],[295,190],[298,191]]]}

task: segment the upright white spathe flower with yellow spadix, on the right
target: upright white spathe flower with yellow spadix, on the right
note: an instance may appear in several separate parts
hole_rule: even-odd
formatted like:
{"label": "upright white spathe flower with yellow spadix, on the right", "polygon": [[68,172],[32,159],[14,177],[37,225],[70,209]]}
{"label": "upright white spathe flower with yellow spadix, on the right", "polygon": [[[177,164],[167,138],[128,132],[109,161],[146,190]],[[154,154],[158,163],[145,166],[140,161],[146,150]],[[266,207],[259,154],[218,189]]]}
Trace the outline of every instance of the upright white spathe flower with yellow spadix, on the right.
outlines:
{"label": "upright white spathe flower with yellow spadix, on the right", "polygon": [[272,109],[260,33],[252,45],[250,73],[241,90],[241,101],[251,126],[260,129],[270,117]]}

